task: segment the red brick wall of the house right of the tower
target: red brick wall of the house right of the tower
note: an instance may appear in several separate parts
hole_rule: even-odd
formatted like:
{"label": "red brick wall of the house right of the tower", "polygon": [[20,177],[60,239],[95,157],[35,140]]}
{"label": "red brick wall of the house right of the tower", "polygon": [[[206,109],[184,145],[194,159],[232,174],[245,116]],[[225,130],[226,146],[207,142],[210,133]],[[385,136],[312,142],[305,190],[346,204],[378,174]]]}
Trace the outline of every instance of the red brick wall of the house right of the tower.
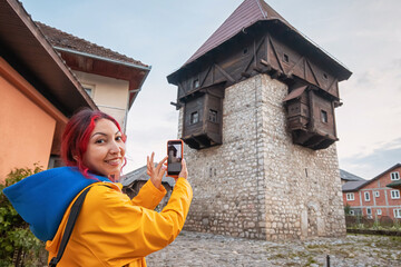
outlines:
{"label": "red brick wall of the house right of the tower", "polygon": [[[371,218],[380,219],[383,216],[389,216],[394,219],[394,209],[401,209],[401,198],[392,198],[391,191],[398,189],[387,187],[387,185],[392,182],[390,174],[393,171],[401,174],[401,168],[385,172],[359,191],[353,192],[355,196],[353,201],[346,200],[346,192],[343,192],[344,205],[349,204],[351,208],[362,209],[362,216],[369,217],[368,208],[370,208],[372,210]],[[375,196],[375,192],[379,192],[379,197]],[[365,199],[365,194],[369,194],[370,200]],[[399,196],[401,197],[401,192],[399,192]],[[381,214],[378,214],[379,209]]]}

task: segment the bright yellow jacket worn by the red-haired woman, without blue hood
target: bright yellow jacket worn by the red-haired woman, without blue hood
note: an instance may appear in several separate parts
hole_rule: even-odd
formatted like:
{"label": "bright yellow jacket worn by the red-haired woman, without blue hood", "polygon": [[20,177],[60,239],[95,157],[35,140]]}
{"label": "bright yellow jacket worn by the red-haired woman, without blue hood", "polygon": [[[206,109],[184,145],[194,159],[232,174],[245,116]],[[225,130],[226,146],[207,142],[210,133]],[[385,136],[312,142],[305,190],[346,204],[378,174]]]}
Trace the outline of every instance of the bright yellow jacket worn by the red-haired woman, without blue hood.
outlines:
{"label": "bright yellow jacket worn by the red-haired woman, without blue hood", "polygon": [[[157,189],[150,180],[134,199],[121,192],[120,184],[107,182],[111,188],[99,185],[102,182],[90,185],[92,188],[57,266],[146,266],[145,256],[166,247],[183,229],[193,197],[186,179],[178,178],[160,212],[154,209],[166,190]],[[55,238],[46,244],[49,260],[57,255],[71,206]]]}

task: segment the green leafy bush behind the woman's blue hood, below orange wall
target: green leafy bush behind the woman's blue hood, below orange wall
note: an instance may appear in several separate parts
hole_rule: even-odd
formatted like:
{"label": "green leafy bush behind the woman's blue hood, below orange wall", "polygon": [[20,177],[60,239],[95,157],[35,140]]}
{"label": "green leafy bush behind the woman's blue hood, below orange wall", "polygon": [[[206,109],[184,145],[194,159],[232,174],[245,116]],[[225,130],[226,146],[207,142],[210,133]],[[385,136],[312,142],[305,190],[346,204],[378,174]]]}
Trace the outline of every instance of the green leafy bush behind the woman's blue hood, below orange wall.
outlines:
{"label": "green leafy bush behind the woman's blue hood, below orange wall", "polygon": [[[38,266],[39,254],[45,244],[33,236],[29,225],[18,215],[2,190],[23,178],[41,171],[37,164],[33,169],[16,168],[0,184],[0,267]],[[46,265],[46,261],[45,261]]]}

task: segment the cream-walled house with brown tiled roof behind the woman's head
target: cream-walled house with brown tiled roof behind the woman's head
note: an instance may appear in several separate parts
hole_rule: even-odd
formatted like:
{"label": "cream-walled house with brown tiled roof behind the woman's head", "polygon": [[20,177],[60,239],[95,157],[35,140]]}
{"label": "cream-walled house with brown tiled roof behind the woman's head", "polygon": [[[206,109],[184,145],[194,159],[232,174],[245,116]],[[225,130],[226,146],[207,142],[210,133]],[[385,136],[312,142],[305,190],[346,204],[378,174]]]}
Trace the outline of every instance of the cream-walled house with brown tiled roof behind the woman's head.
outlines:
{"label": "cream-walled house with brown tiled roof behind the woman's head", "polygon": [[98,108],[116,118],[125,131],[127,113],[150,67],[41,22],[36,23]]}

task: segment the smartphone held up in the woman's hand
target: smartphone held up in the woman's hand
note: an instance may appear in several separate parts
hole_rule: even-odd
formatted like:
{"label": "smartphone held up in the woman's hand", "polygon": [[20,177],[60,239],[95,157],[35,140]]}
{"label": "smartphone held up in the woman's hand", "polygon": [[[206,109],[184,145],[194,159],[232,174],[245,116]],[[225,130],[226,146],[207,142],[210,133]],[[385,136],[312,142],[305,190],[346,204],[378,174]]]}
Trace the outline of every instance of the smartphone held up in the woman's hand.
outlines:
{"label": "smartphone held up in the woman's hand", "polygon": [[182,170],[182,160],[184,156],[183,140],[168,140],[167,155],[167,175],[177,177]]}

